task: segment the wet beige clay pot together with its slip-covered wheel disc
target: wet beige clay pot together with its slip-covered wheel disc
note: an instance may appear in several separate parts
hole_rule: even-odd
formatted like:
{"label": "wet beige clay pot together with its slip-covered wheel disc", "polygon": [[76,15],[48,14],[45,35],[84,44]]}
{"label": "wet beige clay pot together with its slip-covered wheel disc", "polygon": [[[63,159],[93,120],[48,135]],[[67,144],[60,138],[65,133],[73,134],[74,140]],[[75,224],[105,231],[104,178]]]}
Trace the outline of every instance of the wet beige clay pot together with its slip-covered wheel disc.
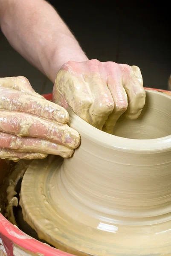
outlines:
{"label": "wet beige clay pot together with its slip-covered wheel disc", "polygon": [[75,255],[171,255],[171,98],[146,91],[139,118],[122,116],[114,135],[68,111],[81,145],[71,158],[32,162],[24,220]]}

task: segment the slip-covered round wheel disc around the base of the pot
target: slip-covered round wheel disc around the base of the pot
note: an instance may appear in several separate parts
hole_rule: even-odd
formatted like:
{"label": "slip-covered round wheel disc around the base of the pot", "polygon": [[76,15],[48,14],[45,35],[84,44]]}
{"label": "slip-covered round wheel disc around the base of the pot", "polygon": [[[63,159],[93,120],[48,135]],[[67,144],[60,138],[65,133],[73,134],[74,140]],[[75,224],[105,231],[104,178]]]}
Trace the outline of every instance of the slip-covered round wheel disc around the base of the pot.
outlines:
{"label": "slip-covered round wheel disc around the base of the pot", "polygon": [[62,184],[63,159],[53,159],[34,160],[26,170],[20,191],[24,220],[40,239],[77,256],[144,256],[170,250],[171,221],[125,226],[100,213],[88,215],[84,205],[82,212],[78,210],[79,202],[73,202]]}

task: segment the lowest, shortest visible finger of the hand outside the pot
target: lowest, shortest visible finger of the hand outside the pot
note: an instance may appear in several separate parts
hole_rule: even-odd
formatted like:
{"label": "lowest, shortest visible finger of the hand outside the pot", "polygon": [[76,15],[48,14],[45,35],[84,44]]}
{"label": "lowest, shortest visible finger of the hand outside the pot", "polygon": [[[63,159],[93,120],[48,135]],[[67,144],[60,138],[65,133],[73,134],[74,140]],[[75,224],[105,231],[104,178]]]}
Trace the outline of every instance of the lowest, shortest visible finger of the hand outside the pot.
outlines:
{"label": "lowest, shortest visible finger of the hand outside the pot", "polygon": [[0,158],[8,159],[17,162],[20,159],[42,159],[47,157],[47,154],[31,153],[31,152],[17,152],[15,150],[0,148]]}

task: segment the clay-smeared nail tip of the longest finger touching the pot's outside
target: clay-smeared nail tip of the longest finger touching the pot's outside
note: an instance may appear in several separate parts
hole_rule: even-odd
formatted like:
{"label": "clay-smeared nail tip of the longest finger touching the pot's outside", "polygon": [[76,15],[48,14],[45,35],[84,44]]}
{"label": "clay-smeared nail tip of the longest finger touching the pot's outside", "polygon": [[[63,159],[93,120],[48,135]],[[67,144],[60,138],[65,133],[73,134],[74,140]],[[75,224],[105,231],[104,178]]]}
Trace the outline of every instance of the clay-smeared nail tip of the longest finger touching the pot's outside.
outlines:
{"label": "clay-smeared nail tip of the longest finger touching the pot's outside", "polygon": [[81,138],[78,131],[75,131],[72,128],[70,128],[68,131],[64,131],[62,136],[62,143],[64,143],[66,147],[73,149],[78,148],[80,141]]}

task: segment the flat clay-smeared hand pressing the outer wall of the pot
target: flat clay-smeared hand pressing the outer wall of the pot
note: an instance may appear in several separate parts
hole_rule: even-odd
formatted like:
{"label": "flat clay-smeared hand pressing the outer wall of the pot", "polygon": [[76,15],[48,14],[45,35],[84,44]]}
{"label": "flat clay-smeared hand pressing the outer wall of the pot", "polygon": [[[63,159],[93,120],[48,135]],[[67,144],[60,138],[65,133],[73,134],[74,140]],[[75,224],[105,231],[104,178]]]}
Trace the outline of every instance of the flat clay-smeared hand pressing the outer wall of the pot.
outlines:
{"label": "flat clay-smeared hand pressing the outer wall of the pot", "polygon": [[0,158],[70,157],[80,143],[67,111],[36,93],[23,77],[0,78]]}

